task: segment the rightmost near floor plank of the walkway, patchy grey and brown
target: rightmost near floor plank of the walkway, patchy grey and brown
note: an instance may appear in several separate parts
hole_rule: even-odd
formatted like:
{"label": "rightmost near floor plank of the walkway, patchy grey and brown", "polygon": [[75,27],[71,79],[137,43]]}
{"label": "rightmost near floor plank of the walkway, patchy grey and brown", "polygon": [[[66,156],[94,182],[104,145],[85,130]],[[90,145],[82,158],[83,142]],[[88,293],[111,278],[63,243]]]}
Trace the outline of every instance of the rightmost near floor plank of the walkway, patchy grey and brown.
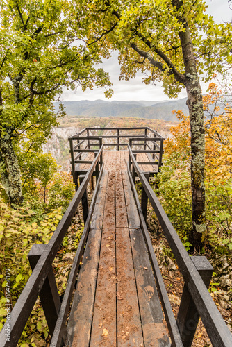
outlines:
{"label": "rightmost near floor plank of the walkway, patchy grey and brown", "polygon": [[131,229],[130,236],[144,346],[170,346],[167,327],[163,324],[163,312],[142,230]]}

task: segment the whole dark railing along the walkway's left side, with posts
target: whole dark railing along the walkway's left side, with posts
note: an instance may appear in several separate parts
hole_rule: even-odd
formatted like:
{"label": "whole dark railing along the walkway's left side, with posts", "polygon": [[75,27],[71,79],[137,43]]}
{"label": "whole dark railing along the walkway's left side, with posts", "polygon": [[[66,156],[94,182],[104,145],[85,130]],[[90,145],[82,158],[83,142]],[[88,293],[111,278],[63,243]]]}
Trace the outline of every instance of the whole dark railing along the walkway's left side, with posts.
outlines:
{"label": "whole dark railing along the walkway's left side, with posts", "polygon": [[[65,323],[67,320],[67,314],[69,312],[69,303],[72,298],[74,285],[76,282],[76,274],[81,262],[81,256],[83,255],[85,242],[88,238],[90,220],[97,199],[101,175],[103,173],[103,162],[101,161],[102,151],[103,146],[101,146],[99,151],[97,151],[90,169],[88,169],[87,173],[81,177],[80,187],[78,187],[74,198],[72,199],[69,207],[63,215],[63,218],[54,231],[49,243],[36,244],[31,248],[31,251],[28,254],[28,259],[31,267],[33,268],[33,272],[28,279],[28,282],[26,282],[26,286],[24,287],[22,294],[19,296],[17,303],[15,303],[12,312],[10,313],[10,341],[6,341],[5,336],[7,323],[3,326],[0,332],[1,347],[17,346],[17,342],[22,335],[28,317],[33,310],[33,306],[38,296],[40,296],[44,314],[47,319],[47,324],[49,325],[49,332],[52,336],[50,346],[60,346],[62,341],[65,341],[65,336],[67,333]],[[99,170],[99,164],[101,171]],[[87,186],[93,174],[95,174],[98,179],[89,208]],[[72,217],[74,217],[76,208],[81,201],[83,206],[85,228],[76,250],[72,269],[67,280],[67,287],[61,303],[58,295],[58,289],[56,287],[56,280],[54,278],[52,264],[72,221]]]}

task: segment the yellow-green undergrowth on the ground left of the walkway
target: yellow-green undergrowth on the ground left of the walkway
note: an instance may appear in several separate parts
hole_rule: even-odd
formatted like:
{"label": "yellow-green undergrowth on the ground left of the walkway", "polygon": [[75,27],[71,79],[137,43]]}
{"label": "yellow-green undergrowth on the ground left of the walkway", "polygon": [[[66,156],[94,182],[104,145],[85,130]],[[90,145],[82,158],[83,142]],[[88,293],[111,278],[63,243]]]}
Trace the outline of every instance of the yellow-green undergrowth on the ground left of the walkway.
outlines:
{"label": "yellow-green undergrowth on the ground left of the walkway", "polygon": [[[31,266],[27,258],[31,246],[49,242],[74,196],[74,183],[69,174],[56,171],[55,174],[53,172],[52,180],[50,174],[46,177],[50,178],[49,182],[33,180],[28,183],[25,187],[24,204],[20,207],[11,208],[0,197],[0,330],[6,319],[6,269],[10,269],[10,303],[13,307],[31,276]],[[44,183],[47,184],[46,187]],[[61,257],[67,257],[67,254],[71,258],[74,257],[82,230],[82,221],[79,221],[75,228],[71,228],[61,246]],[[69,268],[65,262],[60,262],[59,257],[54,264],[59,293],[63,294],[66,285],[64,276],[67,279]],[[49,330],[44,312],[40,301],[37,301],[19,346],[38,346],[37,343],[41,340],[45,344],[48,337]]]}

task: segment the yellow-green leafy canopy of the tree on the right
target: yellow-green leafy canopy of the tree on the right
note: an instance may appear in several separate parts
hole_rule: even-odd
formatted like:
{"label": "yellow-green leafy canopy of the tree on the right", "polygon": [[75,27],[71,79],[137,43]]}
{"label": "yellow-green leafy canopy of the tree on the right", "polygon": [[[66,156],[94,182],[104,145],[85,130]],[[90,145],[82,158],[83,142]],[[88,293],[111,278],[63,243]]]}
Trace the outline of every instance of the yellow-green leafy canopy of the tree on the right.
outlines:
{"label": "yellow-green leafy canopy of the tree on the right", "polygon": [[215,24],[202,0],[87,0],[84,6],[92,21],[88,42],[95,41],[99,46],[104,42],[108,53],[110,49],[119,50],[121,78],[129,80],[141,70],[147,74],[144,83],[163,81],[165,93],[177,96],[185,78],[179,37],[185,28],[181,18],[188,22],[201,78],[208,81],[215,71],[228,74],[231,23]]}

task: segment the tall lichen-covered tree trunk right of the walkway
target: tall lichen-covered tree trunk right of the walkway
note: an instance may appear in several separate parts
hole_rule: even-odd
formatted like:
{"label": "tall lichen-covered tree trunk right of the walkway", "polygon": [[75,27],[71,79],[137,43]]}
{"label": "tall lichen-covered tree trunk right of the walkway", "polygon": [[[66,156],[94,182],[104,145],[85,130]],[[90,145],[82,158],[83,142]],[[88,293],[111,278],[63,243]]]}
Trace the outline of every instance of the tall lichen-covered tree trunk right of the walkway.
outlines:
{"label": "tall lichen-covered tree trunk right of the walkway", "polygon": [[[174,1],[181,5],[182,1]],[[178,7],[178,6],[177,6]],[[205,130],[204,110],[201,86],[197,75],[197,66],[188,23],[185,18],[178,18],[184,24],[185,31],[179,32],[183,61],[185,65],[185,87],[188,94],[191,129],[191,188],[192,188],[192,230],[189,242],[197,247],[206,235],[205,206]]]}

